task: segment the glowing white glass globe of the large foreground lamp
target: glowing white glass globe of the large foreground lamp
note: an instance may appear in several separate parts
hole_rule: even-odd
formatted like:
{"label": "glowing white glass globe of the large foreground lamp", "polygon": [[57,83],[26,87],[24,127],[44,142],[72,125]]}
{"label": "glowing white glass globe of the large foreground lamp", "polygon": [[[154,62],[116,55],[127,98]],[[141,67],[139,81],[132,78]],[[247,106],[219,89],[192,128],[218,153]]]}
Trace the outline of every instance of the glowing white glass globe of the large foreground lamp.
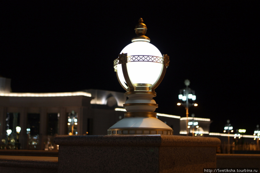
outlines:
{"label": "glowing white glass globe of the large foreground lamp", "polygon": [[[133,42],[120,52],[120,54],[122,53],[127,53],[128,57],[135,55],[162,57],[161,52],[153,44],[148,42]],[[133,84],[146,83],[152,85],[160,77],[162,67],[162,63],[134,61],[127,63],[127,72]],[[127,88],[122,72],[122,65],[120,64],[117,65],[117,74],[121,84]]]}

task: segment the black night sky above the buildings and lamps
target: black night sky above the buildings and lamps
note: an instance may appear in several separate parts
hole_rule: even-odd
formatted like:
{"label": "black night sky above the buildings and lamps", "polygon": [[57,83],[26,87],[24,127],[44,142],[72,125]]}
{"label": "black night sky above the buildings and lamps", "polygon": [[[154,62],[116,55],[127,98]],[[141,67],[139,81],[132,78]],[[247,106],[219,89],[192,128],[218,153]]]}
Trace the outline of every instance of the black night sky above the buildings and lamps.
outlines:
{"label": "black night sky above the buildings and lamps", "polygon": [[125,92],[113,60],[140,17],[170,66],[156,112],[185,116],[179,89],[190,79],[211,132],[252,135],[259,119],[259,1],[0,1],[0,75],[13,92]]}

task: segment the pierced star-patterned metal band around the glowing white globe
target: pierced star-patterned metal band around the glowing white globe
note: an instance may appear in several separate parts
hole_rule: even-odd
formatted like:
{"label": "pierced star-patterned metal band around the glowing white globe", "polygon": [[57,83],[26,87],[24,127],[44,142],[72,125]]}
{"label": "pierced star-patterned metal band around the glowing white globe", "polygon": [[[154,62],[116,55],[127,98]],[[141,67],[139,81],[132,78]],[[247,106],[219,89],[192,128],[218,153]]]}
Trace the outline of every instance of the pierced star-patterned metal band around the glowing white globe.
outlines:
{"label": "pierced star-patterned metal band around the glowing white globe", "polygon": [[[125,55],[126,54],[119,54],[120,56],[114,60],[114,68],[117,69],[118,64],[125,63]],[[134,55],[127,57],[127,62],[154,62],[154,63],[161,63],[163,64],[164,58],[162,57],[155,57],[155,56],[147,56],[147,55]]]}

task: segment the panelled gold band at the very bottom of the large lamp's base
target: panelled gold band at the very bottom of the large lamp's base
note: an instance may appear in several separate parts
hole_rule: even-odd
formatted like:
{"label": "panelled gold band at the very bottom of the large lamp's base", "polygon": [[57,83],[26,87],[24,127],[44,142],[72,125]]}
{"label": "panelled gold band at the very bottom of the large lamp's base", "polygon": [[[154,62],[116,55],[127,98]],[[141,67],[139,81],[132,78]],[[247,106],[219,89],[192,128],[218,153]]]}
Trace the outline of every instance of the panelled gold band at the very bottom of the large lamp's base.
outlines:
{"label": "panelled gold band at the very bottom of the large lamp's base", "polygon": [[173,135],[168,129],[108,129],[108,135]]}

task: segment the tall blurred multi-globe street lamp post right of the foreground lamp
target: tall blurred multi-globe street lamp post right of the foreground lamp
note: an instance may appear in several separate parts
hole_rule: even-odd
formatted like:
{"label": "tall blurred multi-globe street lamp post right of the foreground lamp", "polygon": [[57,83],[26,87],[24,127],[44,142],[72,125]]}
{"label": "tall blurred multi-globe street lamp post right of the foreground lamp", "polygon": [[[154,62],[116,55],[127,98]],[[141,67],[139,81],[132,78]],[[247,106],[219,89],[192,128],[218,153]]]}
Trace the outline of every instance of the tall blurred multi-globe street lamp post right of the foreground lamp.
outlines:
{"label": "tall blurred multi-globe street lamp post right of the foreground lamp", "polygon": [[[184,84],[186,85],[186,88],[180,89],[180,94],[179,94],[179,99],[180,103],[177,103],[177,105],[182,105],[185,107],[186,110],[186,130],[187,130],[187,136],[189,135],[189,130],[188,130],[188,117],[189,117],[189,107],[191,106],[198,106],[198,104],[194,103],[196,100],[196,95],[195,91],[190,89],[188,86],[190,85],[190,80],[186,79],[184,81]],[[190,102],[192,103],[190,103]]]}

